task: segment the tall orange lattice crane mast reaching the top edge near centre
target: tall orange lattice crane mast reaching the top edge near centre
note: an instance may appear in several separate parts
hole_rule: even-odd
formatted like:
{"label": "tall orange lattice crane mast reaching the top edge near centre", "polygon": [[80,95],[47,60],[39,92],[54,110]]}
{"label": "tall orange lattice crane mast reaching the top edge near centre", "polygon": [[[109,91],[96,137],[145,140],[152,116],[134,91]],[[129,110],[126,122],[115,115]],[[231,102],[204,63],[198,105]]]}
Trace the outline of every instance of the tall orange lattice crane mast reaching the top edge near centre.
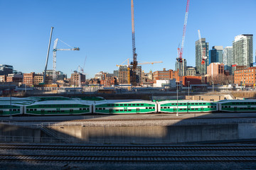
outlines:
{"label": "tall orange lattice crane mast reaching the top edge near centre", "polygon": [[[134,31],[134,2],[131,0],[131,11],[132,11],[132,57],[133,57],[133,62],[132,64],[132,85],[136,86],[136,67],[137,67],[137,53],[136,53],[136,47],[135,47],[135,31]],[[128,78],[128,84],[129,78]]]}

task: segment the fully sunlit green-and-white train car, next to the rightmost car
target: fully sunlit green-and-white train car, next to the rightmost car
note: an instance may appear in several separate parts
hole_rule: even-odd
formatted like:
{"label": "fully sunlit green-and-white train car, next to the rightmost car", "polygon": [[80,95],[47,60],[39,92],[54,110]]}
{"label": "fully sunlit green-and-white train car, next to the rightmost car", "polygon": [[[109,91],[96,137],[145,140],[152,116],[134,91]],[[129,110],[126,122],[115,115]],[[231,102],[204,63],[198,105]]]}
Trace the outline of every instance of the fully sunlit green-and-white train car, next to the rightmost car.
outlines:
{"label": "fully sunlit green-and-white train car, next to the rightmost car", "polygon": [[[218,103],[212,101],[178,101],[178,113],[218,111]],[[176,113],[177,101],[159,101],[159,113]]]}

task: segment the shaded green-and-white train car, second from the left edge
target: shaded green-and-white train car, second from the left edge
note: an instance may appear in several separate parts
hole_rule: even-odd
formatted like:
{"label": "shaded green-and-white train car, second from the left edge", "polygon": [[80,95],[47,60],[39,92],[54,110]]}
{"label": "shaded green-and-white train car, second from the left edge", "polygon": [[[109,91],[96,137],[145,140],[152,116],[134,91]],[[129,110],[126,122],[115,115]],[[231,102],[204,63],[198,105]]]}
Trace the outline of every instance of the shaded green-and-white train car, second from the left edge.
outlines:
{"label": "shaded green-and-white train car, second from the left edge", "polygon": [[87,101],[38,101],[24,106],[27,115],[82,115],[92,113],[92,102]]}

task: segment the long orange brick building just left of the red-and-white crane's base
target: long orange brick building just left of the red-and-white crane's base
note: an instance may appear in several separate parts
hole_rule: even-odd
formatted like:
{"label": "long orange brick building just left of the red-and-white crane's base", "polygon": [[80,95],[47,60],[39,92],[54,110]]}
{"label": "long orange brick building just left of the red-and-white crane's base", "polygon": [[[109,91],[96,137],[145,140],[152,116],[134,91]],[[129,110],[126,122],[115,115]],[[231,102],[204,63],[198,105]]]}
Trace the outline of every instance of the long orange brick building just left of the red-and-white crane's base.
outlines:
{"label": "long orange brick building just left of the red-and-white crane's base", "polygon": [[174,71],[172,69],[163,71],[156,71],[153,73],[154,84],[156,84],[156,80],[169,80],[176,79],[176,81],[180,81],[180,77],[178,76],[178,71]]}

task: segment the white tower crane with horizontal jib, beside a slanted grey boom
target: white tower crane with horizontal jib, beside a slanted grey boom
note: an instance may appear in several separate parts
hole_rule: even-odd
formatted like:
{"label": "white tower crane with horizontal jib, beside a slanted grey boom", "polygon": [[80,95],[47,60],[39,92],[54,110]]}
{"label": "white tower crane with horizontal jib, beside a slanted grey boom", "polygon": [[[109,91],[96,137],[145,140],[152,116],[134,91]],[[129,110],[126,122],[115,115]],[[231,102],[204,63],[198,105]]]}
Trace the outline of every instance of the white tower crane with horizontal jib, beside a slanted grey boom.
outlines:
{"label": "white tower crane with horizontal jib, beside a slanted grey boom", "polygon": [[62,40],[60,40],[61,42],[63,42],[65,45],[68,45],[69,47],[71,47],[70,49],[60,49],[57,48],[58,45],[58,38],[56,38],[56,40],[54,41],[54,45],[53,45],[53,84],[56,84],[56,52],[57,51],[79,51],[80,48],[79,47],[71,47],[70,45],[66,44],[65,42],[63,42]]}

